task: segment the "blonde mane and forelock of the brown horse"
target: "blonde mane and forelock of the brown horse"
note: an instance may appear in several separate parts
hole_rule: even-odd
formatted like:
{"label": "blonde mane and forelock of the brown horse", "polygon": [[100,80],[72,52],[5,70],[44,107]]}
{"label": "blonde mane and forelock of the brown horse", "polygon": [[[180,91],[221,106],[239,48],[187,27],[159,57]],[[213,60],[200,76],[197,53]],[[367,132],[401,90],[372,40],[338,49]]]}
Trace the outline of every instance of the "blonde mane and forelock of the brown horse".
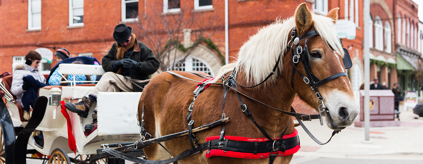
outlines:
{"label": "blonde mane and forelock of the brown horse", "polygon": [[[335,33],[335,24],[333,19],[326,16],[312,14],[313,25],[321,38],[326,41],[328,46],[337,47],[334,49],[335,54],[343,57],[343,50],[338,35]],[[211,82],[217,82],[222,76],[236,68],[236,72],[243,70],[245,77],[248,79],[248,85],[256,85],[263,81],[279,57],[282,51],[281,62],[276,70],[276,76],[272,76],[267,82],[275,82],[277,75],[281,73],[283,66],[283,55],[286,53],[288,38],[291,39],[291,30],[295,27],[295,18],[276,21],[266,27],[258,30],[258,32],[249,38],[239,49],[236,62],[227,64],[220,68],[216,79]]]}

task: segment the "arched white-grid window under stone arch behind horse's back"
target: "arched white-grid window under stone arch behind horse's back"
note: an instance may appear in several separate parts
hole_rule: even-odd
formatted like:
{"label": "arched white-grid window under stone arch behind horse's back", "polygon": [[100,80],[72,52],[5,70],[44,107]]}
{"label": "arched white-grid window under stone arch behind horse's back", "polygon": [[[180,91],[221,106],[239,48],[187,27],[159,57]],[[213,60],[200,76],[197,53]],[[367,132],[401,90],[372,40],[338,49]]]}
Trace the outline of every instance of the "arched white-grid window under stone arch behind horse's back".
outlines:
{"label": "arched white-grid window under stone arch behind horse's back", "polygon": [[175,63],[173,65],[173,68],[171,68],[170,70],[172,71],[201,71],[211,76],[214,76],[214,72],[209,67],[209,64],[207,64],[206,62],[200,59],[196,59],[192,57],[187,57],[187,59],[183,62]]}

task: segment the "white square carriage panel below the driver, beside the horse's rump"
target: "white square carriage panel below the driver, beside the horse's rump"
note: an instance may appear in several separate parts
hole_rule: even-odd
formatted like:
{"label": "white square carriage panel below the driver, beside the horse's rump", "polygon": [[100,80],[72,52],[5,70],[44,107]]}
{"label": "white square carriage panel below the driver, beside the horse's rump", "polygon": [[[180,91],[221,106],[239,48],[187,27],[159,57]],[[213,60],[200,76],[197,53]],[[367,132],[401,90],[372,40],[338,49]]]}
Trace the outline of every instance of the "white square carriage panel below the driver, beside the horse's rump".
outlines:
{"label": "white square carriage panel below the driver, beside the horse's rump", "polygon": [[97,93],[98,135],[139,134],[138,102],[141,92]]}

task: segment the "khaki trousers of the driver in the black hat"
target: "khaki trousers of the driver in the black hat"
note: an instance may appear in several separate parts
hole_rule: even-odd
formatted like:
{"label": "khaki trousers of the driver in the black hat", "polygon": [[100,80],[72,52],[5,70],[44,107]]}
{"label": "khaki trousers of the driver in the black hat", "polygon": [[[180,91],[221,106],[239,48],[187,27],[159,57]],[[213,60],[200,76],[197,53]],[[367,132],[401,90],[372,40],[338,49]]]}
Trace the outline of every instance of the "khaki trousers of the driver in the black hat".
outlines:
{"label": "khaki trousers of the driver in the black hat", "polygon": [[[133,80],[138,81],[138,80]],[[124,77],[113,72],[103,74],[100,81],[94,87],[90,95],[97,97],[97,92],[132,92],[132,82],[130,77]]]}

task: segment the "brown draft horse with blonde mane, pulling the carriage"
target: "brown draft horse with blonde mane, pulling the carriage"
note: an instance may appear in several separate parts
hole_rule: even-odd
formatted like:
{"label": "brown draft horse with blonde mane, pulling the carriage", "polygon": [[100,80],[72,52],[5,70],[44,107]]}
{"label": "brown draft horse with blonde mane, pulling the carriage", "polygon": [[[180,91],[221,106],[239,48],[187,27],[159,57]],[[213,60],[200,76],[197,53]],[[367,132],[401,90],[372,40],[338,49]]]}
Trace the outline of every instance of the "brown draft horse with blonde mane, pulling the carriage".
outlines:
{"label": "brown draft horse with blonde mane, pulling the carriage", "polygon": [[[271,107],[290,110],[290,106],[296,94],[311,107],[318,107],[315,92],[303,79],[296,74],[294,87],[291,86],[292,56],[291,50],[286,45],[291,40],[291,31],[297,28],[299,36],[316,30],[319,36],[312,36],[308,41],[310,52],[311,72],[319,79],[324,79],[339,72],[346,72],[343,66],[343,52],[341,43],[335,33],[335,22],[338,18],[338,9],[332,9],[327,16],[312,14],[305,3],[298,6],[295,15],[286,20],[277,20],[272,25],[263,27],[257,34],[250,37],[240,49],[238,60],[223,66],[217,78],[212,82],[222,83],[222,76],[228,75],[236,68],[236,80],[242,85],[255,85],[261,82],[272,70],[282,50],[282,59],[276,73],[264,84],[258,87],[245,88],[238,86],[238,90],[258,101],[264,102]],[[291,43],[292,44],[292,43]],[[299,42],[304,46],[305,41]],[[339,47],[332,49],[330,47]],[[284,57],[286,56],[286,57]],[[299,62],[297,68],[305,74],[304,68]],[[205,77],[188,72],[175,71],[184,77],[202,81]],[[176,77],[163,72],[149,82],[143,96],[140,99],[138,118],[141,118],[144,106],[144,121],[146,131],[153,137],[160,137],[187,130],[188,107],[192,103],[193,94],[197,82]],[[194,104],[192,120],[193,127],[202,126],[221,119],[222,100],[224,87],[211,85],[201,93]],[[348,77],[338,77],[319,87],[320,93],[325,97],[327,106],[326,122],[329,128],[343,129],[350,126],[359,112],[359,104],[356,102],[351,83]],[[243,97],[243,96],[242,96]],[[294,132],[294,123],[290,116],[273,109],[264,107],[255,101],[243,97],[257,123],[262,126],[271,137],[279,137],[281,132],[288,126],[286,134]],[[231,121],[226,123],[225,135],[250,138],[263,138],[264,135],[256,128],[251,120],[241,111],[236,93],[229,90],[225,101],[226,117]],[[200,143],[206,142],[206,137],[218,136],[222,126],[211,130],[195,133]],[[163,145],[176,156],[191,148],[188,137],[172,139],[163,142]],[[170,155],[165,149],[154,144],[144,148],[149,160],[165,160]],[[181,164],[267,164],[268,159],[238,159],[221,156],[206,158],[206,151],[180,160]],[[291,156],[279,156],[275,159],[277,164],[288,164]]]}

